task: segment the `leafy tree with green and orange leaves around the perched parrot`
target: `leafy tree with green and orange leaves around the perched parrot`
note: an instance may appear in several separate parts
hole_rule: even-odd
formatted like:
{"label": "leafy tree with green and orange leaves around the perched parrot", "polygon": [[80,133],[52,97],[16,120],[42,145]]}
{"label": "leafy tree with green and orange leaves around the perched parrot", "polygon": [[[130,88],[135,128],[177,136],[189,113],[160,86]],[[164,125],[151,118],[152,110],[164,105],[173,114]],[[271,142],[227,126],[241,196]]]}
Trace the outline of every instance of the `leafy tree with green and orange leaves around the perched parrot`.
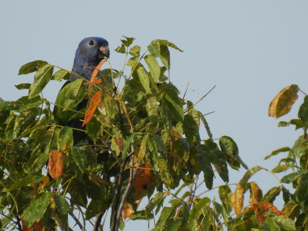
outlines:
{"label": "leafy tree with green and orange leaves around the perched parrot", "polygon": [[[258,185],[249,182],[262,168],[248,170],[229,136],[214,142],[205,115],[194,108],[196,103],[181,99],[170,82],[169,48],[181,50],[157,39],[140,55],[141,48],[131,46],[133,41],[125,37],[115,49],[124,54],[124,67],[131,68],[128,76],[124,67],[116,71],[107,60],[110,67],[102,70],[101,76],[90,82],[75,80],[63,105],[57,105],[63,111],[74,111],[81,100],[89,99],[86,111],[74,111],[67,120],[82,116],[84,132],[94,144],[82,141],[73,146],[76,128],[58,125],[50,102],[40,96],[50,80],[68,79],[70,71],[41,60],[20,68],[20,75],[36,74],[33,83],[16,86],[29,89],[27,96],[0,103],[1,230],[71,230],[74,224],[69,223],[69,216],[81,230],[90,219],[93,230],[102,230],[107,210],[111,211],[111,230],[123,229],[123,218],[151,221],[157,214],[152,230],[295,230],[295,217],[296,227],[304,227],[308,217],[304,190],[308,152],[302,149],[306,135],[297,141],[296,148],[271,154],[293,153],[277,168],[294,169],[293,175],[286,175],[281,182],[293,182],[295,193],[281,184],[262,196]],[[59,70],[54,73],[54,68]],[[304,107],[296,123],[307,130]],[[208,137],[201,138],[201,126]],[[300,166],[296,158],[300,158]],[[234,193],[228,184],[220,186],[221,204],[202,197],[204,194],[195,195],[200,187],[198,178],[204,177],[202,184],[209,189],[215,175],[228,183],[228,165],[248,170]],[[172,193],[171,189],[177,191]],[[251,199],[244,208],[248,190]],[[291,212],[273,205],[281,191]],[[148,205],[138,210],[146,196]],[[170,206],[165,206],[170,197]]]}

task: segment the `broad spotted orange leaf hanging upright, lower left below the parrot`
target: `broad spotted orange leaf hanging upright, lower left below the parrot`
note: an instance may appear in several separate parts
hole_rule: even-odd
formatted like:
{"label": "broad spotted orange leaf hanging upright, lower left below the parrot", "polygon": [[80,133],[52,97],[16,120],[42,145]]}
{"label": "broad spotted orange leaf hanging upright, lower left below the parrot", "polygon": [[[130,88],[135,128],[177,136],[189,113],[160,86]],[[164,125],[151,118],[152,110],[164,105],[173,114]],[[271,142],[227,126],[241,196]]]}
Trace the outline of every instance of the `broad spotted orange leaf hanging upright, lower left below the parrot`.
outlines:
{"label": "broad spotted orange leaf hanging upright, lower left below the parrot", "polygon": [[48,172],[52,178],[57,179],[62,175],[65,155],[58,150],[53,150],[49,155]]}

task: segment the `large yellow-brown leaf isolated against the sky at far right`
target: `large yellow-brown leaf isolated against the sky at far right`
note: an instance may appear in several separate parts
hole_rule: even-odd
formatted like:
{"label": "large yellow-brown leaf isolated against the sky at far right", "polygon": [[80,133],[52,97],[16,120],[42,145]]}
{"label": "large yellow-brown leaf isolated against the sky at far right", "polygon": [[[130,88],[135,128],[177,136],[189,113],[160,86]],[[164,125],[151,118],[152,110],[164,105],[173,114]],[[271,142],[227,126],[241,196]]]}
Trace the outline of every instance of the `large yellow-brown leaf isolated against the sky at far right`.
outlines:
{"label": "large yellow-brown leaf isolated against the sky at far right", "polygon": [[270,103],[269,116],[276,117],[277,119],[282,115],[286,115],[298,98],[298,90],[299,88],[295,84],[283,88]]}

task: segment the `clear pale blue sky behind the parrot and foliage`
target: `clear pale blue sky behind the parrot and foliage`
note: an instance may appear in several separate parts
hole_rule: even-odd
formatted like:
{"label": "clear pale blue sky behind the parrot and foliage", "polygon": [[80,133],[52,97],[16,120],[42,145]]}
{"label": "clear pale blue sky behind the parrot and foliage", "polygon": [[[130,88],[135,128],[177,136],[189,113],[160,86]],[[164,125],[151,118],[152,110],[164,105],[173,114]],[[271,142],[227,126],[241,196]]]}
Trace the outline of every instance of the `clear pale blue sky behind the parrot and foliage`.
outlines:
{"label": "clear pale blue sky behind the parrot and foliage", "polygon": [[[274,149],[292,146],[302,131],[278,128],[268,117],[270,101],[290,84],[308,92],[307,1],[1,1],[0,97],[26,95],[14,84],[31,83],[33,75],[18,76],[19,67],[33,60],[71,69],[78,43],[85,37],[108,40],[110,61],[121,69],[124,56],[114,49],[122,35],[134,37],[145,51],[153,39],[167,39],[185,52],[171,50],[171,81],[193,102],[214,85],[196,108],[206,116],[213,136],[232,137],[249,168],[272,169],[282,155],[268,161]],[[44,97],[55,102],[63,83],[49,83]],[[293,112],[303,102],[299,93]],[[203,137],[207,136],[203,133]],[[237,183],[244,170],[230,170]],[[278,175],[279,176],[279,175]],[[281,175],[280,175],[281,176]],[[278,186],[268,172],[252,178],[265,194]],[[214,185],[222,184],[216,180]],[[209,197],[216,195],[212,190]],[[249,195],[247,195],[249,197]],[[282,204],[277,204],[282,208]]]}

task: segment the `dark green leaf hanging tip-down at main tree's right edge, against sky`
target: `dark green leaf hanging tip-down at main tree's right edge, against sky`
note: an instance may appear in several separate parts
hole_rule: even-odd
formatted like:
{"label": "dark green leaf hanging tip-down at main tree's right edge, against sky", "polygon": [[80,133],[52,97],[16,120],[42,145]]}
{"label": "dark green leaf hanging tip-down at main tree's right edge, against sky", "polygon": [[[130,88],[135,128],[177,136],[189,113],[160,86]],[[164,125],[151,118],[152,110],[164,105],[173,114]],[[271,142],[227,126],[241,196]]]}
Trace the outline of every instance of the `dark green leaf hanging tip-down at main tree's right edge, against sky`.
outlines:
{"label": "dark green leaf hanging tip-down at main tree's right edge, against sky", "polygon": [[229,171],[224,154],[219,149],[211,150],[213,164],[223,181],[229,182]]}

